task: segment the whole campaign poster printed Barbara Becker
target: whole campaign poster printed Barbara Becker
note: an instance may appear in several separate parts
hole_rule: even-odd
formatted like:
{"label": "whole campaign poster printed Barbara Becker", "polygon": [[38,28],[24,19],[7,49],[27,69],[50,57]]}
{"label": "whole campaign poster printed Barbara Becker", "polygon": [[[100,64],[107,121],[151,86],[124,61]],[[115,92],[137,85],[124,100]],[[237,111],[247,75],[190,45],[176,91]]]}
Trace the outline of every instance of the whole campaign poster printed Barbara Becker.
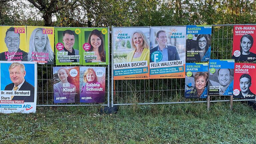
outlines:
{"label": "whole campaign poster printed Barbara Becker", "polygon": [[211,56],[211,25],[188,25],[186,62],[206,62]]}

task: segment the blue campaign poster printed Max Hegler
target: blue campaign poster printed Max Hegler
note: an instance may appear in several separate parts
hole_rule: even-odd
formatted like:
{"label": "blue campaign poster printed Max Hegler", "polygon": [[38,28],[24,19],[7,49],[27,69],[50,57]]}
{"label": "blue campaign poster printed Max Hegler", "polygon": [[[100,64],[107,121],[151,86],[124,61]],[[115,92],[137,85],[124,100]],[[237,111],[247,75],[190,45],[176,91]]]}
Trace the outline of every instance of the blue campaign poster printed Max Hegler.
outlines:
{"label": "blue campaign poster printed Max Hegler", "polygon": [[234,64],[233,59],[209,60],[208,95],[233,95]]}

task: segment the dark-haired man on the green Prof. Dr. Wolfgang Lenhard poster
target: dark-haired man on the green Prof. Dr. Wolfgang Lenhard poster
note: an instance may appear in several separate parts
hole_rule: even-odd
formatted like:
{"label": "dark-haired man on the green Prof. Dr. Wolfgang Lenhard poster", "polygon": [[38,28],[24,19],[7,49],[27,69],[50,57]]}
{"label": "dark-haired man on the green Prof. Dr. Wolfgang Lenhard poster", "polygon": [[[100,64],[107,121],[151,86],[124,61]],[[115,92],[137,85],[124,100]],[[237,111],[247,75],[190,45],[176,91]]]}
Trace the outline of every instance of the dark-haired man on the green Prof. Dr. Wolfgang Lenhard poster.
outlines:
{"label": "dark-haired man on the green Prof. Dr. Wolfgang Lenhard poster", "polygon": [[[75,33],[72,30],[65,30],[62,33],[64,48],[60,52],[68,52],[68,55],[79,55],[79,50],[73,48],[75,45]],[[79,59],[63,59],[59,62],[79,62]]]}

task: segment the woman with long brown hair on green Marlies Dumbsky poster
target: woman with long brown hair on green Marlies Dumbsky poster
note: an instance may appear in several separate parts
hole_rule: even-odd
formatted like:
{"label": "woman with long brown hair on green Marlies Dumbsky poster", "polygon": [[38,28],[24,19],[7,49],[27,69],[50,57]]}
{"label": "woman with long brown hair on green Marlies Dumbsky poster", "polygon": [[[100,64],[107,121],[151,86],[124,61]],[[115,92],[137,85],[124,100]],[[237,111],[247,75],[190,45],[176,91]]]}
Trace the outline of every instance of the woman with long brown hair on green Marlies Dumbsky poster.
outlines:
{"label": "woman with long brown hair on green Marlies Dumbsky poster", "polygon": [[97,59],[86,62],[106,62],[104,39],[99,30],[95,29],[90,33],[88,43],[91,45],[89,51],[95,52]]}

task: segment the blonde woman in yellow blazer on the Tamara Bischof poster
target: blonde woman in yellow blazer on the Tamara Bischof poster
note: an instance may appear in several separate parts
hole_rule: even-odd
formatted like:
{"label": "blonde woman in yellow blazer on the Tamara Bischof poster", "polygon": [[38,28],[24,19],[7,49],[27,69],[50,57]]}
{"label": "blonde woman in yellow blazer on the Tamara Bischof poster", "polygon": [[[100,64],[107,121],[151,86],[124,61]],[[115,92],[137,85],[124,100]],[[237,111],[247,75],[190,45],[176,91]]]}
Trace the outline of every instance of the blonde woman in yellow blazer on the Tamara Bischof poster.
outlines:
{"label": "blonde woman in yellow blazer on the Tamara Bischof poster", "polygon": [[133,51],[127,55],[127,62],[147,61],[149,65],[149,44],[142,31],[135,31],[132,36]]}

